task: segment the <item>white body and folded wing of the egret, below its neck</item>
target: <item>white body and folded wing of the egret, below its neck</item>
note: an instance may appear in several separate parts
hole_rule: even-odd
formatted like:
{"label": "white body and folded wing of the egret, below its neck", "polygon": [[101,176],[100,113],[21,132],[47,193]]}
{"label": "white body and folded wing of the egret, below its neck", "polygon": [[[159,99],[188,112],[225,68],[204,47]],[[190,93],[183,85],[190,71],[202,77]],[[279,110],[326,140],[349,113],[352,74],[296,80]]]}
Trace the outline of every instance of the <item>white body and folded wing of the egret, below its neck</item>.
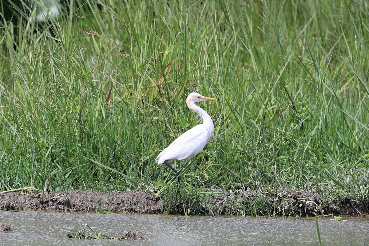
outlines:
{"label": "white body and folded wing of the egret, below its neck", "polygon": [[[165,160],[187,160],[204,149],[209,135],[213,135],[203,124],[197,125],[180,135],[156,157],[161,164]],[[211,139],[211,138],[210,138]]]}

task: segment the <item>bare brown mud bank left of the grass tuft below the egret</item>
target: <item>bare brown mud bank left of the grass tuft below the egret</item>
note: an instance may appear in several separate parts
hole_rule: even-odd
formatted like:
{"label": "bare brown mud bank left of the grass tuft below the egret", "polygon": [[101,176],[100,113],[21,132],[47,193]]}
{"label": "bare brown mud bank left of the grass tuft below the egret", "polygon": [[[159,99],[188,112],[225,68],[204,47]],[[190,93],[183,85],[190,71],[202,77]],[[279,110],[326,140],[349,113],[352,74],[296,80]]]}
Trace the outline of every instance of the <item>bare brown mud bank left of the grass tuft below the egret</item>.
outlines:
{"label": "bare brown mud bank left of the grass tuft below the egret", "polygon": [[44,195],[9,192],[0,194],[0,208],[9,210],[51,210],[77,212],[132,212],[155,214],[161,212],[161,202],[154,193],[72,190]]}

